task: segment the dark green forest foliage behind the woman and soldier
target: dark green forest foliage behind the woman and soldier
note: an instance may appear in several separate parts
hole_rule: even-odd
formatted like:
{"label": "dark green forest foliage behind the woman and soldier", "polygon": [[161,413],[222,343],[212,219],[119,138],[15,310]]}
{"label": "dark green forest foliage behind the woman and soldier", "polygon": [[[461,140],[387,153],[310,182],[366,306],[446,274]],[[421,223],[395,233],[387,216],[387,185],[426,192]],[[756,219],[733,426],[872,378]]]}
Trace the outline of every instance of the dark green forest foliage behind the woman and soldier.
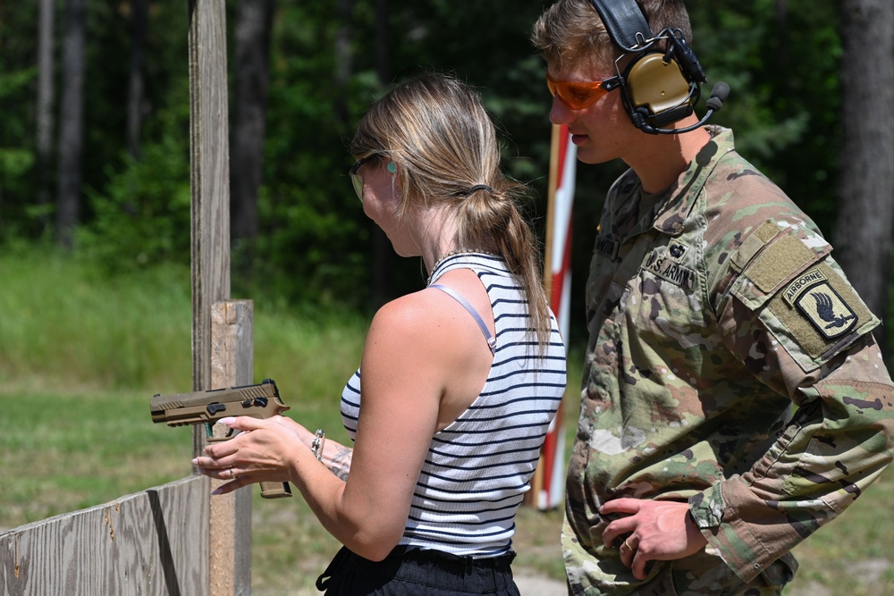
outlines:
{"label": "dark green forest foliage behind the woman and soldier", "polygon": [[[370,102],[424,70],[454,72],[480,90],[500,130],[504,165],[528,183],[527,211],[544,235],[551,98],[543,63],[528,41],[544,4],[391,3],[386,30],[376,21],[375,5],[355,0],[346,14],[333,2],[275,4],[260,236],[233,246],[237,293],[357,307],[381,298],[364,290],[374,224],[350,190],[347,144]],[[710,83],[724,80],[732,89],[713,122],[731,126],[740,152],[828,232],[841,134],[839,7],[808,0],[692,0],[687,6],[693,47]],[[230,63],[237,7],[227,3]],[[76,249],[114,270],[183,263],[190,235],[184,208],[190,183],[188,4],[150,3],[143,151],[135,157],[123,156],[129,4],[89,0],[88,8],[86,208]],[[35,222],[51,215],[32,198],[36,10],[24,4],[6,13],[0,21],[0,231],[35,239],[42,230]],[[348,54],[341,39],[348,40]],[[586,278],[603,193],[622,170],[622,164],[578,168],[576,279]],[[417,262],[386,258],[389,296],[419,287]],[[583,312],[582,296],[575,293],[572,312]],[[573,333],[583,329],[572,325]]]}

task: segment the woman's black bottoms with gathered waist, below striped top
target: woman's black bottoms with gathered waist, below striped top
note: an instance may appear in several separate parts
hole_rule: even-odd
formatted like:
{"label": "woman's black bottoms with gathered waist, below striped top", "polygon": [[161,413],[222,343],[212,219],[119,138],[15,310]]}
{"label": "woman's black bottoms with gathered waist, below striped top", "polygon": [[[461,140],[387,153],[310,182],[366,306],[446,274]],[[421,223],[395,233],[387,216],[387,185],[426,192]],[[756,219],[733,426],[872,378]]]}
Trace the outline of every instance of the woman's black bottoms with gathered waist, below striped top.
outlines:
{"label": "woman's black bottoms with gathered waist, below striped top", "polygon": [[515,553],[472,558],[398,546],[376,562],[342,547],[316,588],[326,596],[520,596],[513,558]]}

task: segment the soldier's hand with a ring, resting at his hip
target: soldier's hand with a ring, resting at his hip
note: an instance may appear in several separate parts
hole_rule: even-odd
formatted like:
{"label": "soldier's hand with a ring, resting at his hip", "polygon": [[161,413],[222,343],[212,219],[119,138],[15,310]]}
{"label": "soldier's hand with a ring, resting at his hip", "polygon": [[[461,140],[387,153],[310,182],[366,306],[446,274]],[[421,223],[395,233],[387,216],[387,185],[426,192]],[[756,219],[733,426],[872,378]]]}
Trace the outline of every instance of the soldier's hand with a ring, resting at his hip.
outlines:
{"label": "soldier's hand with a ring, resting at his hip", "polygon": [[611,548],[619,536],[629,534],[619,545],[620,560],[637,579],[645,579],[645,564],[694,555],[708,543],[689,517],[688,503],[670,500],[613,499],[599,508],[600,515],[623,514],[603,532],[603,543]]}

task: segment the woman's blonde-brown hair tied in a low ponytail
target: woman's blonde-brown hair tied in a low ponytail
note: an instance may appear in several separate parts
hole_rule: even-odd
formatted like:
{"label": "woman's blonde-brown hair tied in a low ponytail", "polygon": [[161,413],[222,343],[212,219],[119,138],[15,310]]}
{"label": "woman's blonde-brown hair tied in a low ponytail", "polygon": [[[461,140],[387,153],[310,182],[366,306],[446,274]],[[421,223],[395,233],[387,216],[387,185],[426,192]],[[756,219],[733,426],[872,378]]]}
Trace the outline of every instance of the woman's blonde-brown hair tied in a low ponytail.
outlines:
{"label": "woman's blonde-brown hair tied in a low ponytail", "polygon": [[455,218],[454,246],[506,260],[525,290],[543,350],[551,323],[540,253],[516,204],[525,186],[501,172],[496,131],[478,94],[445,74],[401,83],[364,114],[350,152],[399,164],[398,217],[421,206],[442,208]]}

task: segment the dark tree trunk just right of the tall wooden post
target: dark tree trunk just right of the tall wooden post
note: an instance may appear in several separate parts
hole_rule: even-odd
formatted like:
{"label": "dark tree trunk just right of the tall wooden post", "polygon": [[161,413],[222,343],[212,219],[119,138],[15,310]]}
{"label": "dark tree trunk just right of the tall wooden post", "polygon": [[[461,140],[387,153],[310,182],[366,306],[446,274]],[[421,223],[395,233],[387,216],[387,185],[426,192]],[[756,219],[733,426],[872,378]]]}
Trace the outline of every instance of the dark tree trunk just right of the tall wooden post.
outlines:
{"label": "dark tree trunk just right of the tall wooden post", "polygon": [[236,22],[232,125],[232,235],[249,250],[257,238],[257,193],[261,187],[273,0],[240,2]]}

